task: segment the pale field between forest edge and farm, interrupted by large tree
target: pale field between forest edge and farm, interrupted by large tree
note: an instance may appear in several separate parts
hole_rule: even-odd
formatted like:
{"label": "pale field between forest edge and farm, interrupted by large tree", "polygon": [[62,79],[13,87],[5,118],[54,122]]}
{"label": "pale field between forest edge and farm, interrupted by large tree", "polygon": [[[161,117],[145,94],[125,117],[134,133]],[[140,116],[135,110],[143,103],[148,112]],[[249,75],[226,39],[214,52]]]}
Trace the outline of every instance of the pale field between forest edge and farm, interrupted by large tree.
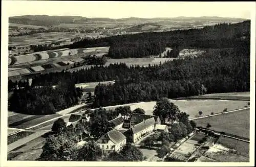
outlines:
{"label": "pale field between forest edge and farm, interrupted by large tree", "polygon": [[[202,116],[210,115],[211,112],[222,112],[225,108],[228,111],[245,108],[247,102],[245,101],[226,101],[226,100],[170,100],[177,105],[181,112],[189,114],[189,118],[198,117],[199,111],[202,111]],[[146,114],[152,115],[156,102],[142,102],[131,105],[131,109],[142,108]]]}

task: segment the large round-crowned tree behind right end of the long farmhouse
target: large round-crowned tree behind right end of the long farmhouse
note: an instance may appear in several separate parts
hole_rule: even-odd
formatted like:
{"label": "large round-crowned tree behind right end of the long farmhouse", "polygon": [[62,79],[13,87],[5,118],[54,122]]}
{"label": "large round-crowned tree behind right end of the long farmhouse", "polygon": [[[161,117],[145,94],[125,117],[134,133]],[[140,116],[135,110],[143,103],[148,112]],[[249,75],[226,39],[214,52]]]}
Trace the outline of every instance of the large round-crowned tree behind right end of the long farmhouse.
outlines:
{"label": "large round-crowned tree behind right end of the long farmhouse", "polygon": [[165,123],[165,120],[174,123],[177,118],[177,115],[180,113],[178,106],[174,103],[170,103],[167,98],[162,98],[161,100],[157,101],[156,105],[154,106],[153,114],[160,117],[161,122]]}

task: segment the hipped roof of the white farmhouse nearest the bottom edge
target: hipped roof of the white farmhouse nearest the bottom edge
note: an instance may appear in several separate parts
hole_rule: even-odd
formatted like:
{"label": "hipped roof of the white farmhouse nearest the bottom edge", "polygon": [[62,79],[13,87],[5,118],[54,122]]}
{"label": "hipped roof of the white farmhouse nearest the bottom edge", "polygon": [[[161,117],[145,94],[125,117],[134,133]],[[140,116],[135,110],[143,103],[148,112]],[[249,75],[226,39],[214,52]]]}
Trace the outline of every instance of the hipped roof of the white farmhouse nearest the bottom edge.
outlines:
{"label": "hipped roof of the white farmhouse nearest the bottom edge", "polygon": [[126,137],[119,131],[113,129],[109,131],[108,133],[101,136],[96,142],[101,143],[102,140],[111,140],[114,142],[114,144],[119,144],[122,140],[124,140]]}

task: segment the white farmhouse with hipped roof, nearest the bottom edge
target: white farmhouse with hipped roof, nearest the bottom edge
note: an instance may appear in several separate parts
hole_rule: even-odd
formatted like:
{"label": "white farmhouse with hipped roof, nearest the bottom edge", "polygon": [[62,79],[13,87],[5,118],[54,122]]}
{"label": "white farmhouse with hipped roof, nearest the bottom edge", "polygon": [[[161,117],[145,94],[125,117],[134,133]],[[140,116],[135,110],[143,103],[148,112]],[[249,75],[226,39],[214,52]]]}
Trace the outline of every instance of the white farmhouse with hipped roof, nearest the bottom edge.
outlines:
{"label": "white farmhouse with hipped roof, nearest the bottom edge", "polygon": [[113,129],[101,136],[96,144],[103,151],[120,151],[126,144],[126,137],[119,131]]}

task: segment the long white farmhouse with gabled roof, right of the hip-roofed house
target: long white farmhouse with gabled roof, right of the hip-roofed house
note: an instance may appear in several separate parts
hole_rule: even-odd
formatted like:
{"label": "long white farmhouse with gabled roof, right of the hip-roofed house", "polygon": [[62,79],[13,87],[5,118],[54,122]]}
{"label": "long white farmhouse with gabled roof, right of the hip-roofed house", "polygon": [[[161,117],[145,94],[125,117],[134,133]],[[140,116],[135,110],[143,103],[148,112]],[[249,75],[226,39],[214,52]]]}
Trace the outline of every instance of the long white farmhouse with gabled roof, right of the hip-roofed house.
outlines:
{"label": "long white farmhouse with gabled roof, right of the hip-roofed house", "polygon": [[154,131],[155,124],[156,122],[154,117],[148,118],[147,120],[144,120],[139,124],[132,126],[130,129],[124,132],[124,135],[131,142],[136,142],[147,134],[152,133]]}

